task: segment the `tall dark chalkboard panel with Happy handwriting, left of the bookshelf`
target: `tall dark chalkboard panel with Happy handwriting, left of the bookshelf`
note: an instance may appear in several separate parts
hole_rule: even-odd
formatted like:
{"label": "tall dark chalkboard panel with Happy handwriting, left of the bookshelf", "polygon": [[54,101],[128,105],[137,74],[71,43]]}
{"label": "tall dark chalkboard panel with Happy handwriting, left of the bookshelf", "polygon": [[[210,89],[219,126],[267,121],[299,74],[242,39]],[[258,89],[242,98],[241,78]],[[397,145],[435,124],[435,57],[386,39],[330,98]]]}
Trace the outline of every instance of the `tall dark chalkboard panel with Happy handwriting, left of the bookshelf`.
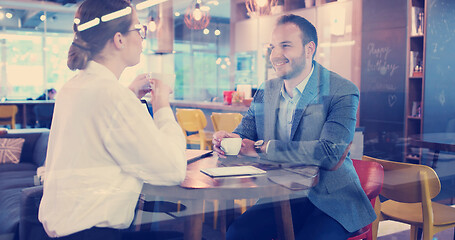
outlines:
{"label": "tall dark chalkboard panel with Happy handwriting, left of the bookshelf", "polygon": [[401,159],[404,133],[407,1],[362,2],[360,126],[364,153]]}

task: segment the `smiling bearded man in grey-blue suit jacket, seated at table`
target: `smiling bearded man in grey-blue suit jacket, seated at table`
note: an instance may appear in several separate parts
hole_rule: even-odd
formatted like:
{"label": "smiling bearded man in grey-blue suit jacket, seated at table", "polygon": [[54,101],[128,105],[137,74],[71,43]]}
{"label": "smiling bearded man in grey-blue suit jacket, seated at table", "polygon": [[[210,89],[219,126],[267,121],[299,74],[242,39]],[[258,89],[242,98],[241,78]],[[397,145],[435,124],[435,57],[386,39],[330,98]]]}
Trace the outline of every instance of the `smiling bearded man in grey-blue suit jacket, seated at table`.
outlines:
{"label": "smiling bearded man in grey-blue suit jacket, seated at table", "polygon": [[[279,78],[262,84],[241,124],[216,132],[213,144],[223,157],[221,140],[241,137],[240,154],[318,166],[319,183],[291,200],[295,237],[347,239],[376,218],[351,159],[339,161],[354,137],[359,91],[313,60],[317,43],[309,21],[282,16],[270,45]],[[276,238],[272,204],[259,203],[231,224],[227,239]]]}

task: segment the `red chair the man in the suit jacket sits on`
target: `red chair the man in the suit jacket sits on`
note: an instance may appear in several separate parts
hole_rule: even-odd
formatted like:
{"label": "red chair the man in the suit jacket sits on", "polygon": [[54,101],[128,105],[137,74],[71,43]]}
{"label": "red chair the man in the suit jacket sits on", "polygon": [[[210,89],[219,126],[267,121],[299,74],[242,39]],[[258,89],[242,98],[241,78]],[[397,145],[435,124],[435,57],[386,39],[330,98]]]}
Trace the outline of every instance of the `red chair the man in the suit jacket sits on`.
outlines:
{"label": "red chair the man in the suit jacket sits on", "polygon": [[[368,199],[370,199],[371,205],[374,208],[376,198],[378,198],[384,182],[384,169],[381,164],[376,162],[352,159],[352,163],[354,164],[354,168],[359,176],[360,185],[362,185],[363,191],[365,191],[365,194]],[[348,240],[372,240],[373,232],[371,227],[372,223],[353,233]],[[375,235],[377,235],[377,233]]]}

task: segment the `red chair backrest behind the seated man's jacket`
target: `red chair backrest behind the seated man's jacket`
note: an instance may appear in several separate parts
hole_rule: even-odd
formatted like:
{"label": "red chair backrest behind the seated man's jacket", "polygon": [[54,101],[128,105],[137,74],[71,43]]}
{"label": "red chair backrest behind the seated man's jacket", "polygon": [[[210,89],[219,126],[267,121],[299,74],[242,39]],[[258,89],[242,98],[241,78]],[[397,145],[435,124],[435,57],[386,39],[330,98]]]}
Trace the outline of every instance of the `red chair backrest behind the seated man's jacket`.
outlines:
{"label": "red chair backrest behind the seated man's jacket", "polygon": [[384,182],[384,169],[381,164],[370,161],[352,159],[360,185],[370,201],[381,192]]}

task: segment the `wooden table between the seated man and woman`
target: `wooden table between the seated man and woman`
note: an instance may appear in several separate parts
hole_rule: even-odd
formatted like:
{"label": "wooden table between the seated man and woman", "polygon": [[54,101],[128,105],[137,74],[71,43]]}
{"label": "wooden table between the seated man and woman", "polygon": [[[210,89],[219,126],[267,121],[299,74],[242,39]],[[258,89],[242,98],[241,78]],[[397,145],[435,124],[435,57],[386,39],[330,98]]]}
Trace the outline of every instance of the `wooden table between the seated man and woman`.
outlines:
{"label": "wooden table between the seated man and woman", "polygon": [[[219,200],[220,205],[223,206],[220,209],[229,210],[233,207],[234,199],[267,197],[274,202],[278,239],[294,239],[289,199],[290,195],[297,191],[269,181],[267,175],[211,178],[200,172],[202,168],[218,167],[220,164],[221,161],[217,156],[193,162],[188,165],[186,178],[180,186],[144,184],[142,194],[164,199],[167,197],[185,200],[187,210],[192,214],[185,217],[184,235],[185,239],[191,240],[200,240],[202,237],[203,200]],[[268,171],[267,174],[272,171],[278,170]]]}

